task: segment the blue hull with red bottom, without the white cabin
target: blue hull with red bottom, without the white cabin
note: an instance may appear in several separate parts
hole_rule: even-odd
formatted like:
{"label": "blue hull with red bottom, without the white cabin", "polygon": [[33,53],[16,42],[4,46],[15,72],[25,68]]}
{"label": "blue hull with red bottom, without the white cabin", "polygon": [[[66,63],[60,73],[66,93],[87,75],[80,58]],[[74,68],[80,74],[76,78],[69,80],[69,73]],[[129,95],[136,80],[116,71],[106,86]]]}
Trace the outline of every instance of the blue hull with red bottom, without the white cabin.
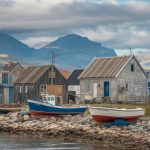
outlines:
{"label": "blue hull with red bottom, without the white cabin", "polygon": [[76,115],[86,111],[86,107],[58,107],[48,103],[28,100],[30,112],[33,115]]}

